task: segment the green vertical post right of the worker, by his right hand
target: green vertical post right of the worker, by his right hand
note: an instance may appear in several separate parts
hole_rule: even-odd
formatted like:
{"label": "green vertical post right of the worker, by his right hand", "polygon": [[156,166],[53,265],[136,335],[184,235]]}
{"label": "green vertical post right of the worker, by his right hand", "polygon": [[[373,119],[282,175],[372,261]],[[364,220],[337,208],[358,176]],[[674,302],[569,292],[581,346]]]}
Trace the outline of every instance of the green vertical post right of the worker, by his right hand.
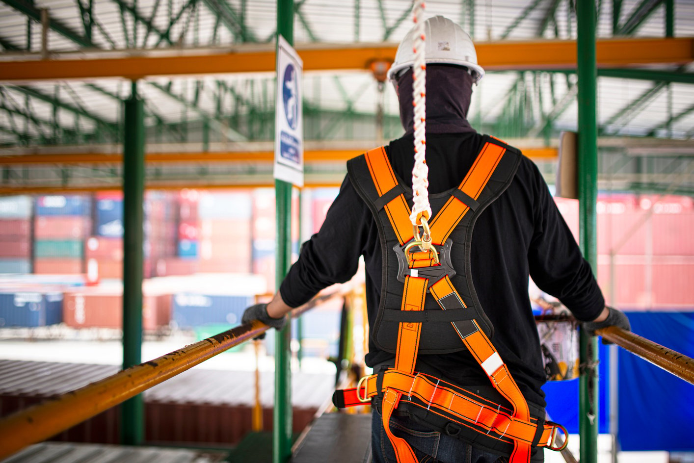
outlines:
{"label": "green vertical post right of the worker, by his right hand", "polygon": [[[593,272],[598,252],[595,240],[598,198],[598,121],[596,110],[598,67],[595,58],[595,0],[577,0],[578,76],[578,195],[581,249]],[[585,331],[580,334],[579,380],[580,461],[598,462],[598,344]]]}

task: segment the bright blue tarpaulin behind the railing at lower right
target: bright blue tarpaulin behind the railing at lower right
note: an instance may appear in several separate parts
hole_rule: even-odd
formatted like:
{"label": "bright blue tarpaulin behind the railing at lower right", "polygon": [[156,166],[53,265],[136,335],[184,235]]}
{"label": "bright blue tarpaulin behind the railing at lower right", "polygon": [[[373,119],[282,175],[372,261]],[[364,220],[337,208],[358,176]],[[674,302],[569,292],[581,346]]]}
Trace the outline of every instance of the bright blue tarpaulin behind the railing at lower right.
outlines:
{"label": "bright blue tarpaulin behind the railing at lower right", "polygon": [[[632,331],[694,357],[694,313],[629,312]],[[609,433],[609,353],[600,345],[600,433]],[[578,433],[578,380],[547,383],[552,420]],[[619,440],[623,451],[694,451],[694,385],[619,349]]]}

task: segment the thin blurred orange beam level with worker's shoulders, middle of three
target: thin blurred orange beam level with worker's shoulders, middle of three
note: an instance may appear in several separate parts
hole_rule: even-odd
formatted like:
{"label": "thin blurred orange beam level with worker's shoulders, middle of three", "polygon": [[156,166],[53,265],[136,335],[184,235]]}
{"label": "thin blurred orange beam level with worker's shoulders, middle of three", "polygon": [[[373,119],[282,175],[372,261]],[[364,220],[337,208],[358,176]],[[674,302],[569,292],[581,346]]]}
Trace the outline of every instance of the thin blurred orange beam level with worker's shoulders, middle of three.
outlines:
{"label": "thin blurred orange beam level with worker's shoulders, middle of three", "polygon": [[[556,159],[557,148],[522,148],[523,154],[532,159]],[[304,160],[312,162],[345,162],[361,154],[361,150],[306,150]],[[147,163],[186,163],[186,162],[272,162],[271,151],[230,151],[230,152],[148,152]],[[120,153],[56,153],[0,156],[0,165],[12,164],[119,164],[123,161]]]}

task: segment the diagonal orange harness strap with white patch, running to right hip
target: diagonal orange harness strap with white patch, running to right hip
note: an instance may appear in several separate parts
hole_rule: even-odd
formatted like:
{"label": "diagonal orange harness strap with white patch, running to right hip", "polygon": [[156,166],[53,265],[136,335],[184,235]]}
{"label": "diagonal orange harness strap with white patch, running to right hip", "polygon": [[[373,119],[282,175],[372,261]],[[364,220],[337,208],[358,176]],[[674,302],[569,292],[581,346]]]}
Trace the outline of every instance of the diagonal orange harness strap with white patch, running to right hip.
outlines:
{"label": "diagonal orange harness strap with white patch, running to right hip", "polygon": [[[447,306],[450,308],[449,301],[451,299],[454,301],[457,299],[463,307],[465,306],[462,297],[460,297],[457,290],[453,287],[448,275],[434,283],[430,290],[443,310],[446,310]],[[454,295],[455,298],[453,298]],[[444,304],[442,302],[443,299],[448,299],[448,301]],[[489,338],[486,337],[484,331],[477,325],[477,322],[475,322],[475,320],[470,320],[470,322],[472,322],[473,326],[456,324],[456,322],[451,322],[451,324],[460,336],[462,342],[464,342],[465,346],[473,354],[477,363],[480,364],[486,376],[489,377],[489,381],[491,381],[492,385],[511,403],[511,405],[513,405],[514,418],[530,421],[530,410],[527,408],[525,397],[523,397],[516,381],[514,381],[514,378],[511,376],[508,367],[503,360],[501,360],[499,353],[496,351],[493,344],[491,344]],[[461,329],[461,327],[463,329]],[[529,462],[530,450],[530,444],[514,440],[514,452],[511,453],[510,462]]]}

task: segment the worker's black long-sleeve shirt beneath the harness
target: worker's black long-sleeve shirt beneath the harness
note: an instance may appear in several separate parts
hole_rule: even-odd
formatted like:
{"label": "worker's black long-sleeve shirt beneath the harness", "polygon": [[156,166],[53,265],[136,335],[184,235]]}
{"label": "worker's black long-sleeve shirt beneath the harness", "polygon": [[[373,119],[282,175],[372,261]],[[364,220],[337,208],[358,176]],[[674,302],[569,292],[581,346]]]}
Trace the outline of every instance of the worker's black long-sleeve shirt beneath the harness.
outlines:
{"label": "worker's black long-sleeve shirt beneath the harness", "polygon": [[[386,147],[393,169],[411,185],[412,136]],[[477,133],[427,134],[429,193],[457,187],[482,148]],[[437,211],[432,211],[434,216]],[[350,180],[328,210],[323,226],[302,247],[298,261],[280,286],[292,307],[307,302],[333,283],[348,281],[359,256],[366,263],[366,305],[373,326],[382,272],[376,223]],[[472,238],[473,283],[484,312],[494,326],[491,338],[528,401],[544,405],[545,374],[539,336],[528,297],[528,275],[557,297],[578,320],[593,320],[604,299],[589,264],[561,217],[535,164],[522,157],[511,185],[477,219]],[[392,361],[394,355],[369,342],[366,365]],[[417,369],[439,374],[460,385],[489,385],[468,351],[419,356]]]}

